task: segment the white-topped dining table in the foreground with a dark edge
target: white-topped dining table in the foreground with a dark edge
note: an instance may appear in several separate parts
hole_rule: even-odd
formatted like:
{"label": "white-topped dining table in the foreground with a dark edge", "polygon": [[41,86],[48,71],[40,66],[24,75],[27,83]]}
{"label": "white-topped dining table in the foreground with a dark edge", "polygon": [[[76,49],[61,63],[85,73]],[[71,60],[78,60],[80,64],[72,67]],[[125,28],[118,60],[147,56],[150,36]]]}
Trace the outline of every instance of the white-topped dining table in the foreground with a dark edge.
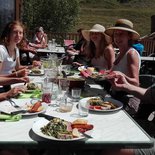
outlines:
{"label": "white-topped dining table in the foreground with a dark edge", "polygon": [[[31,81],[43,81],[43,76],[31,76]],[[90,84],[93,88],[102,91],[102,87],[96,84]],[[30,102],[27,99],[13,99],[16,103]],[[8,101],[0,103],[7,104]],[[56,109],[58,107],[47,105],[45,114],[59,117],[67,121],[74,121],[78,116],[78,102],[73,103],[71,112],[61,113]],[[153,146],[151,137],[125,112],[123,109],[114,112],[89,112],[88,120],[94,126],[89,133],[92,138],[80,140],[61,141],[46,139],[32,129],[34,123],[44,120],[45,118],[38,115],[23,116],[17,122],[0,121],[0,148],[32,148],[32,149],[59,149],[59,150],[102,150],[103,148],[149,148]]]}

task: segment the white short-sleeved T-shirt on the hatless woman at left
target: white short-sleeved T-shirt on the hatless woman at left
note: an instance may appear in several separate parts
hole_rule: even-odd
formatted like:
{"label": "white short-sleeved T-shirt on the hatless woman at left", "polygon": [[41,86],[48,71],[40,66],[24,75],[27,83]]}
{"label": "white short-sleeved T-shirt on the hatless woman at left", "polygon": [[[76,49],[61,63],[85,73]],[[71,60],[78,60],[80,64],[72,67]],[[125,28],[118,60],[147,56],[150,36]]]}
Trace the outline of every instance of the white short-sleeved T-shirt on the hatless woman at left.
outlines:
{"label": "white short-sleeved T-shirt on the hatless woman at left", "polygon": [[10,57],[8,50],[4,45],[0,45],[0,62],[2,63],[2,68],[0,74],[7,75],[11,74],[16,66],[16,59],[19,57],[19,49],[16,48],[16,58]]}

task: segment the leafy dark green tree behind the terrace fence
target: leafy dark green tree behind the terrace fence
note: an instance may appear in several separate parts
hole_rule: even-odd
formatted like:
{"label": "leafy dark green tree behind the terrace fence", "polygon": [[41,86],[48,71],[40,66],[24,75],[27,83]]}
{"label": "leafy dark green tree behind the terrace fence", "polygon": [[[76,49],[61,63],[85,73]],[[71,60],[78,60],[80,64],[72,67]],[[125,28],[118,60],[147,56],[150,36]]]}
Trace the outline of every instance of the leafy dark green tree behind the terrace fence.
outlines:
{"label": "leafy dark green tree behind the terrace fence", "polygon": [[68,32],[77,21],[79,0],[23,1],[23,22],[28,29],[43,26],[51,32]]}

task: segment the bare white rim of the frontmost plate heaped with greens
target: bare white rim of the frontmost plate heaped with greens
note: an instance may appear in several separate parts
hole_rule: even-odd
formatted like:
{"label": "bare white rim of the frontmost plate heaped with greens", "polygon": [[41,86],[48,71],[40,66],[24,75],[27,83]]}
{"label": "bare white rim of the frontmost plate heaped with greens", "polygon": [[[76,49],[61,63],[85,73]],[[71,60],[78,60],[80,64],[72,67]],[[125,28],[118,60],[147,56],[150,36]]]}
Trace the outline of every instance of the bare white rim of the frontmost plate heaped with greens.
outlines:
{"label": "bare white rim of the frontmost plate heaped with greens", "polygon": [[53,136],[48,136],[45,135],[41,132],[41,128],[44,127],[45,125],[48,124],[48,120],[46,119],[40,119],[39,121],[36,121],[33,126],[32,126],[32,130],[35,134],[37,134],[38,136],[42,137],[42,138],[46,138],[46,139],[50,139],[50,140],[55,140],[55,141],[75,141],[75,140],[81,140],[84,139],[85,137],[81,136],[79,138],[73,138],[73,139],[57,139]]}

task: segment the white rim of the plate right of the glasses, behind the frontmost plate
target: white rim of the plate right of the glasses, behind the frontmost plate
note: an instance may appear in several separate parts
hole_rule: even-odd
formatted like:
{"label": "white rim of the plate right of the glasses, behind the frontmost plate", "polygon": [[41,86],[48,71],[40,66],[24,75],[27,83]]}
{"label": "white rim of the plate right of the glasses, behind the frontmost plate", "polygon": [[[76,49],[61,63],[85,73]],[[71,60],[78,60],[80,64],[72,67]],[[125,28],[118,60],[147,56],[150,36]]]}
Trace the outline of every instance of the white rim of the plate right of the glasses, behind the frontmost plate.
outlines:
{"label": "white rim of the plate right of the glasses, behind the frontmost plate", "polygon": [[[97,97],[97,96],[96,96]],[[91,98],[96,98],[96,97],[86,97],[86,98],[83,98],[81,99],[79,102],[81,102],[81,104],[83,105],[83,107],[85,106],[85,104],[88,102],[89,99]],[[100,109],[90,109],[90,111],[97,111],[97,112],[114,112],[114,111],[118,111],[120,109],[123,108],[123,103],[118,101],[118,100],[115,100],[111,97],[105,97],[105,101],[109,101],[109,102],[112,102],[114,105],[117,106],[117,108],[115,109],[108,109],[108,110],[100,110]]]}

